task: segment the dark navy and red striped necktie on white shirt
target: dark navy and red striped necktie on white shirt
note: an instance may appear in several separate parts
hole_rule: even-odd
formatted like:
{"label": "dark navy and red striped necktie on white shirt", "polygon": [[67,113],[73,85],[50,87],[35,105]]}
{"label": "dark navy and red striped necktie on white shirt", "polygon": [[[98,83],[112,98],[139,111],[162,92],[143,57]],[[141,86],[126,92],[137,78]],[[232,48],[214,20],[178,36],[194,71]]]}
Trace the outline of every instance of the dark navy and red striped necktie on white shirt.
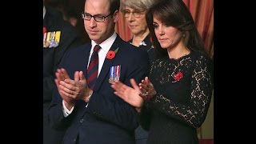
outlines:
{"label": "dark navy and red striped necktie on white shirt", "polygon": [[94,84],[98,76],[98,50],[101,46],[94,46],[94,52],[91,54],[90,63],[87,69],[87,85],[90,90],[94,89]]}

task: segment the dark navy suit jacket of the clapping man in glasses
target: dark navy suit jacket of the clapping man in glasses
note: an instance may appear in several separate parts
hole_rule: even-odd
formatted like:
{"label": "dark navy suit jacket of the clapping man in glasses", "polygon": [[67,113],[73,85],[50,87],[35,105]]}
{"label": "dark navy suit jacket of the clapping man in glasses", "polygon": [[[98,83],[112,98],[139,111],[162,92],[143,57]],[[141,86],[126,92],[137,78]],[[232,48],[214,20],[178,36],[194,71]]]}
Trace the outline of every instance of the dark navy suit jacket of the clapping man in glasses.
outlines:
{"label": "dark navy suit jacket of the clapping man in glasses", "polygon": [[[79,46],[66,53],[60,67],[67,70],[70,78],[74,72],[82,70],[86,77],[86,67],[91,44]],[[62,112],[62,98],[56,90],[50,106],[50,123],[56,129],[68,126],[64,144],[134,144],[134,130],[138,127],[137,112],[133,106],[114,94],[110,87],[110,66],[121,66],[120,81],[130,86],[130,78],[141,82],[149,72],[150,60],[146,51],[123,41],[119,36],[110,50],[119,48],[113,59],[105,59],[102,70],[94,86],[89,105],[78,100],[73,112],[66,118]]]}

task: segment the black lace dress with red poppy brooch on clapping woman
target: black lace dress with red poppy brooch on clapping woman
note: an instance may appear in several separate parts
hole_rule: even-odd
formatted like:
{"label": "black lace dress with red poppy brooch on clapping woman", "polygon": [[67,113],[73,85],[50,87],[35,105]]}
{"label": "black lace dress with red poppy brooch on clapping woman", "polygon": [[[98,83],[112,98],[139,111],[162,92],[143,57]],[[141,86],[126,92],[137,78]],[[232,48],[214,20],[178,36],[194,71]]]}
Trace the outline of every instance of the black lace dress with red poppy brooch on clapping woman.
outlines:
{"label": "black lace dress with red poppy brooch on clapping woman", "polygon": [[150,130],[148,144],[198,143],[197,128],[213,90],[212,68],[210,58],[198,51],[152,62],[149,78],[157,94],[140,113],[142,127]]}

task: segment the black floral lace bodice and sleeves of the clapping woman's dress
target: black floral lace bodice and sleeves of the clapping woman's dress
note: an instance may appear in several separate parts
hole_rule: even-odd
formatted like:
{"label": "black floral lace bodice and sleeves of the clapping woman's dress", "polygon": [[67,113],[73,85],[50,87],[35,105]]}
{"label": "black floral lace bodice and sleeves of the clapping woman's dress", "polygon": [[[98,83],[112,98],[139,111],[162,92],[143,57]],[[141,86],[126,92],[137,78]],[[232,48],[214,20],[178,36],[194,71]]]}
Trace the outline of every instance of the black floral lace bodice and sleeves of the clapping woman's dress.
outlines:
{"label": "black floral lace bodice and sleeves of the clapping woman's dress", "polygon": [[[182,72],[180,81],[174,74]],[[150,68],[150,81],[158,94],[150,106],[169,118],[175,118],[197,128],[202,125],[210,106],[213,81],[210,59],[200,52],[178,59],[162,58]]]}

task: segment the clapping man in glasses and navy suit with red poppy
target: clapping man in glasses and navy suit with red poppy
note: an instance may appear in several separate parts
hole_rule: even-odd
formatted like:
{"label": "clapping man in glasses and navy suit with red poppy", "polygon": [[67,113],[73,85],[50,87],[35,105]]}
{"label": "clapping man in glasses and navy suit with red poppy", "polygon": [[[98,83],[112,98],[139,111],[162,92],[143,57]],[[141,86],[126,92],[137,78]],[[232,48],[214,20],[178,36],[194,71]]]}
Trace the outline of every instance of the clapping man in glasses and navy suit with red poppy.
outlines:
{"label": "clapping man in glasses and navy suit with red poppy", "polygon": [[[119,0],[86,0],[82,18],[91,42],[69,50],[56,72],[58,90],[50,105],[50,124],[56,129],[68,128],[64,144],[135,143],[137,112],[114,94],[111,82],[119,80],[129,86],[130,78],[141,82],[148,74],[150,59],[146,51],[114,32],[119,6]],[[101,47],[98,78],[89,88],[87,67],[96,45]]]}

